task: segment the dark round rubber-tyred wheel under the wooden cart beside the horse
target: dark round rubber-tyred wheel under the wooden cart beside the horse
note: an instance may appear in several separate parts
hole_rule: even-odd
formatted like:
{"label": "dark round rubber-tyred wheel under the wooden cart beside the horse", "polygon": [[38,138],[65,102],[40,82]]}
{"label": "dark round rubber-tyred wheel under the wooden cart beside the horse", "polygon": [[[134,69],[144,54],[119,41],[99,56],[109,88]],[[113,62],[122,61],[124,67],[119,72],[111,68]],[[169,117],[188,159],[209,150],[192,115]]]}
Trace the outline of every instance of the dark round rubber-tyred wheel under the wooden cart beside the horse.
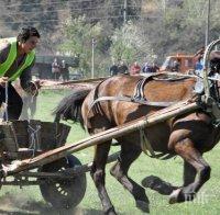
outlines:
{"label": "dark round rubber-tyred wheel under the wooden cart beside the horse", "polygon": [[[57,172],[75,166],[81,166],[74,156],[67,156],[54,162],[42,166],[41,172]],[[86,172],[69,180],[41,179],[40,183],[42,196],[56,208],[76,207],[82,200],[86,192]]]}

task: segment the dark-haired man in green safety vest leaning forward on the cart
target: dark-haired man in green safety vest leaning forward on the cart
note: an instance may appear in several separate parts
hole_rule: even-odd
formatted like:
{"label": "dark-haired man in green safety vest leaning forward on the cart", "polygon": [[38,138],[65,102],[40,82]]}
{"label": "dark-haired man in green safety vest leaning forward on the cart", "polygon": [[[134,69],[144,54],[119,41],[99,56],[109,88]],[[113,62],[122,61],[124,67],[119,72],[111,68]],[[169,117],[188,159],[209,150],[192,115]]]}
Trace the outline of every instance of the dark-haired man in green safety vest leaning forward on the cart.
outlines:
{"label": "dark-haired man in green safety vest leaning forward on the cart", "polygon": [[24,91],[30,93],[33,90],[31,69],[38,39],[40,34],[35,27],[24,27],[16,37],[0,39],[0,105],[7,97],[7,120],[18,120],[23,106],[22,99],[11,82],[20,78]]}

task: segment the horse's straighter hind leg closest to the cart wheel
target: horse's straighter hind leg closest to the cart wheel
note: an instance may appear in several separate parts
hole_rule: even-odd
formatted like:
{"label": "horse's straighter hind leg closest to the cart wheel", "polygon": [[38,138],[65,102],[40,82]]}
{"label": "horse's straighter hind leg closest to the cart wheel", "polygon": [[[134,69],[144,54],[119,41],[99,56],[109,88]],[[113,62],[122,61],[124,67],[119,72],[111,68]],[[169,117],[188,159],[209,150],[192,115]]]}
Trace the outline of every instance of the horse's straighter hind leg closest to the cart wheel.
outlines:
{"label": "horse's straighter hind leg closest to the cart wheel", "polygon": [[109,199],[109,195],[105,186],[105,178],[106,178],[105,168],[110,146],[111,142],[106,142],[96,147],[96,154],[90,174],[98,190],[98,194],[101,200],[105,214],[114,215],[116,214],[114,207]]}

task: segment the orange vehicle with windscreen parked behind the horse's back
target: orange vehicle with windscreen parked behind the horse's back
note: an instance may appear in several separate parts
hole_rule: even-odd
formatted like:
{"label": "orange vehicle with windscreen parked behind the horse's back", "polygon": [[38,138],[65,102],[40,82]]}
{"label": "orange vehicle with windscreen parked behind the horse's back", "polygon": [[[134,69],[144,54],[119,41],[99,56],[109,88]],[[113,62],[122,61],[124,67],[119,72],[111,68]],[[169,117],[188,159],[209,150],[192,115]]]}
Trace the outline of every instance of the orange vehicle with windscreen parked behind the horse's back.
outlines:
{"label": "orange vehicle with windscreen parked behind the horse's back", "polygon": [[176,54],[166,57],[160,71],[179,71],[182,73],[187,73],[188,71],[194,70],[195,65],[195,55]]}

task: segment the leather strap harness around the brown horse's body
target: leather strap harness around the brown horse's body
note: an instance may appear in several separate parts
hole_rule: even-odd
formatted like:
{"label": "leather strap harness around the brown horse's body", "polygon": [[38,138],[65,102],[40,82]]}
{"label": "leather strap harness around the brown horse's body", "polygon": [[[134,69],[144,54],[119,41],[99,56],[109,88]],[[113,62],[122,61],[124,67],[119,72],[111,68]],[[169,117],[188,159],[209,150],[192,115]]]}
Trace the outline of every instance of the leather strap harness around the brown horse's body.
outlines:
{"label": "leather strap harness around the brown horse's body", "polygon": [[[99,97],[98,95],[98,88],[99,86],[103,82],[101,81],[96,90],[95,90],[95,99],[94,102],[91,103],[88,114],[91,110],[94,110],[95,112],[99,112],[101,111],[101,109],[99,108],[99,102],[102,101],[124,101],[124,102],[133,102],[133,103],[138,103],[138,104],[143,104],[143,105],[150,105],[150,106],[162,106],[162,108],[167,108],[169,105],[175,104],[176,102],[151,102],[147,101],[147,99],[144,95],[144,87],[145,84],[151,81],[151,80],[158,80],[158,81],[176,81],[176,80],[183,80],[186,79],[188,77],[170,77],[170,76],[162,76],[162,78],[160,77],[160,75],[151,75],[148,77],[142,77],[138,82],[136,86],[134,88],[134,93],[132,97],[128,97],[128,95],[119,95],[119,97]],[[212,83],[212,87],[210,89],[211,91],[211,97],[213,98],[213,101],[216,101],[215,104],[219,104],[220,102],[220,94],[219,94],[219,87],[218,87],[218,82],[215,81]],[[206,105],[204,105],[202,102],[202,94],[204,91],[200,94],[196,93],[196,98],[198,100],[198,105],[201,106],[201,109],[207,112],[211,117],[212,117],[212,124],[215,126],[220,126],[220,109],[219,105],[212,105],[211,110],[208,110]],[[140,128],[140,140],[141,140],[141,148],[142,151],[144,154],[146,154],[147,156],[152,157],[152,158],[161,158],[161,159],[169,159],[172,157],[174,157],[175,155],[167,155],[167,154],[155,154],[155,151],[153,150],[145,132],[143,131],[143,128]],[[150,152],[150,154],[148,154]]]}

